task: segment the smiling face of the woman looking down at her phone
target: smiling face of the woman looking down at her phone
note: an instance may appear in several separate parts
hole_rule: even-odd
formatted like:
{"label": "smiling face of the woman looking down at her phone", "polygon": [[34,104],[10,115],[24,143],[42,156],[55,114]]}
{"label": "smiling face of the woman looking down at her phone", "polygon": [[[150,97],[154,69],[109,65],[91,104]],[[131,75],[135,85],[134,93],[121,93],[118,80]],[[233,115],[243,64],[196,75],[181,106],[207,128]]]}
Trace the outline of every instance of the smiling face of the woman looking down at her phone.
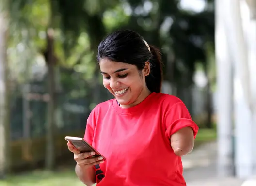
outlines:
{"label": "smiling face of the woman looking down at her phone", "polygon": [[145,76],[149,74],[150,69],[149,62],[145,63],[145,68],[141,72],[135,65],[114,62],[108,58],[101,59],[99,66],[104,87],[123,107],[140,103],[145,98],[144,94],[149,92],[145,83]]}

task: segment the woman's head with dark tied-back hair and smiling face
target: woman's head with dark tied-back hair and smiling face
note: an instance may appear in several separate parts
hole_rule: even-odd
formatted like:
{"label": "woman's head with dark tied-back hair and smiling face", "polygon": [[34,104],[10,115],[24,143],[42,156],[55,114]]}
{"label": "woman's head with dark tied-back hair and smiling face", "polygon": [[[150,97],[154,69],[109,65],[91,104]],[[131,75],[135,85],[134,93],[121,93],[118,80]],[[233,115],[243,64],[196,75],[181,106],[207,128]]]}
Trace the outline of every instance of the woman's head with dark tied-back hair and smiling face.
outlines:
{"label": "woman's head with dark tied-back hair and smiling face", "polygon": [[[116,42],[112,43],[113,40]],[[103,74],[103,85],[121,107],[137,105],[151,92],[160,93],[160,51],[149,46],[136,32],[125,30],[109,35],[99,44],[97,60]],[[125,93],[122,96],[118,92],[121,90]]]}

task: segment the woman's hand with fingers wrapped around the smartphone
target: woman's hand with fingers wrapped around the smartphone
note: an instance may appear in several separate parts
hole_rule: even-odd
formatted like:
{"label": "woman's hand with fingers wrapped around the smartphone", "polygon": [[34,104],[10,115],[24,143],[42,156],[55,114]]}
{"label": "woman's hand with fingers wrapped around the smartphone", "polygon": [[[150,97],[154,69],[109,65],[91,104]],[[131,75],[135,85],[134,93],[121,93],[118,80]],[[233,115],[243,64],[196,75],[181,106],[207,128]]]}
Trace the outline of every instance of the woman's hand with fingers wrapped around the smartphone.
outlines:
{"label": "woman's hand with fingers wrapped around the smartphone", "polygon": [[70,142],[67,143],[69,151],[74,153],[74,159],[81,167],[91,167],[100,163],[103,163],[103,157],[93,157],[95,152],[80,153],[80,151],[74,147]]}

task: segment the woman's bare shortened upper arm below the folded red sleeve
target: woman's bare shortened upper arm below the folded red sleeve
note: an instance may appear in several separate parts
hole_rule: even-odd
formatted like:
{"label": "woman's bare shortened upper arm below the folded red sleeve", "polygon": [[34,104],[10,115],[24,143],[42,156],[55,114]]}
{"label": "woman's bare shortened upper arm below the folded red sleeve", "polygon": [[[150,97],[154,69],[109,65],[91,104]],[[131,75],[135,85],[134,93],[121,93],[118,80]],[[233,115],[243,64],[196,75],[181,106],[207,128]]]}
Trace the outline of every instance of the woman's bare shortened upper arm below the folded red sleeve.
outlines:
{"label": "woman's bare shortened upper arm below the folded red sleeve", "polygon": [[171,135],[170,141],[176,155],[187,155],[194,148],[194,131],[190,126],[181,128]]}

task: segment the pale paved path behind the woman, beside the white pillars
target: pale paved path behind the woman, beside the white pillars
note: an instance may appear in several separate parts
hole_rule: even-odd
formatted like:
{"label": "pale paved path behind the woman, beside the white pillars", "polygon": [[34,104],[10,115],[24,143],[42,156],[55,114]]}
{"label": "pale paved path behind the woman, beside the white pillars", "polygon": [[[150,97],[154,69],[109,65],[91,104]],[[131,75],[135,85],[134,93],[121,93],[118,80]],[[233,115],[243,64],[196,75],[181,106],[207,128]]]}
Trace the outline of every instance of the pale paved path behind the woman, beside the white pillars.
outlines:
{"label": "pale paved path behind the woman, beside the white pillars", "polygon": [[243,180],[218,178],[217,144],[203,144],[182,158],[187,186],[241,186]]}

